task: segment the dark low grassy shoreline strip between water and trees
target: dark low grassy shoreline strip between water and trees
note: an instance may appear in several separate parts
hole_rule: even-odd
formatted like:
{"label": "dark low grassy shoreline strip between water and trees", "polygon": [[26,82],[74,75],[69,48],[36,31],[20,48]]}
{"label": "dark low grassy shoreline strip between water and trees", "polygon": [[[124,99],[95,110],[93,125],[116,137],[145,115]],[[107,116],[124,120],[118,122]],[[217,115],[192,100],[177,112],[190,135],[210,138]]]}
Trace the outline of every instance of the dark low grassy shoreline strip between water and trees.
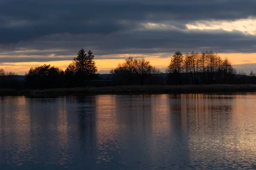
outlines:
{"label": "dark low grassy shoreline strip between water and trees", "polygon": [[87,96],[99,94],[198,94],[256,92],[256,85],[130,85],[56,89],[0,89],[0,96]]}

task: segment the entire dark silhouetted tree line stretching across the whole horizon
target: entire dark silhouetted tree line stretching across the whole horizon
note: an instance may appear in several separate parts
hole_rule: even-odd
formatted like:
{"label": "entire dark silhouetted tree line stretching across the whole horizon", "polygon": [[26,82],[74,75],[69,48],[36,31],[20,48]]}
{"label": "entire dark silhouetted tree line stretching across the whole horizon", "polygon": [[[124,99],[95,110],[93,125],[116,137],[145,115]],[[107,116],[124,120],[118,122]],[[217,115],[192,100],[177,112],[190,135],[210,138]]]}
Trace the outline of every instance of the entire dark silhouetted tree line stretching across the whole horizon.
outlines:
{"label": "entire dark silhouetted tree line stretching across the whole horizon", "polygon": [[[231,62],[227,58],[221,59],[217,53],[212,51],[201,53],[192,51],[189,54],[176,51],[167,66],[167,77],[163,77],[160,69],[151,65],[145,58],[126,58],[116,68],[111,69],[112,77],[108,84],[100,84],[100,81],[95,81],[100,80],[97,71],[93,52],[90,50],[86,52],[82,48],[64,71],[58,67],[45,64],[30,68],[23,83],[10,79],[10,77],[15,76],[15,73],[6,73],[3,69],[0,69],[0,88],[13,88],[15,84],[17,88],[41,89],[84,87],[88,85],[256,83],[255,79],[253,81],[237,79],[235,76],[236,70]],[[250,75],[254,75],[253,72]]]}

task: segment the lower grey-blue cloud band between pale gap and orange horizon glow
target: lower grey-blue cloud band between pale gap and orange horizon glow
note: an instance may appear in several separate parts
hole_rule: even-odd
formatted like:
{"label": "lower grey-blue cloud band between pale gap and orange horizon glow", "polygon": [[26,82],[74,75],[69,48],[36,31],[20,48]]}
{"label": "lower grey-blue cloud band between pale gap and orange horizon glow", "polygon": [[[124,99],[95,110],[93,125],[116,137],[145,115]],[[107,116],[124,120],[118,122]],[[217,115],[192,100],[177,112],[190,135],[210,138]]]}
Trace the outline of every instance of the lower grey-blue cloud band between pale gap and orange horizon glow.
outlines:
{"label": "lower grey-blue cloud band between pale gap and orange horizon glow", "polygon": [[[169,57],[177,50],[183,53],[192,50],[199,52],[212,50],[218,53],[252,53],[255,52],[255,45],[255,36],[241,34],[240,32],[226,32],[223,30],[210,33],[207,31],[142,30],[104,36],[58,34],[41,37],[33,42],[17,44],[20,48],[16,50],[36,49],[37,51],[20,50],[20,52],[11,53],[13,49],[9,49],[9,52],[6,53],[6,50],[2,54],[0,53],[0,56],[4,57],[5,54],[11,54],[12,56],[49,57],[54,54],[51,59],[73,59],[79,49],[84,48],[93,51],[96,56],[95,59],[114,59],[116,54],[150,55],[163,53],[161,57]],[[108,55],[107,58],[106,55]],[[30,58],[22,59],[27,61]],[[33,59],[36,60],[36,57]],[[42,58],[38,58],[38,61],[42,61]]]}

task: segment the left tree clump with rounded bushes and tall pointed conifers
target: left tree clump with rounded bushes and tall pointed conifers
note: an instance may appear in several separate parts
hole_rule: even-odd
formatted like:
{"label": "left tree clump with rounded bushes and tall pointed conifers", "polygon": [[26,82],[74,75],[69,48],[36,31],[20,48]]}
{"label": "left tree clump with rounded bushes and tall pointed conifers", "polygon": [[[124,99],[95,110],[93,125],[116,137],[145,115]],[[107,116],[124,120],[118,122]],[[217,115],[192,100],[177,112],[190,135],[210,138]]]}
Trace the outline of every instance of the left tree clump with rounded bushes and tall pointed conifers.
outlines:
{"label": "left tree clump with rounded bushes and tall pointed conifers", "polygon": [[64,88],[86,86],[88,83],[84,80],[93,80],[98,71],[93,59],[93,52],[90,50],[86,52],[82,48],[65,71],[51,65],[30,68],[28,74],[26,74],[25,87]]}

